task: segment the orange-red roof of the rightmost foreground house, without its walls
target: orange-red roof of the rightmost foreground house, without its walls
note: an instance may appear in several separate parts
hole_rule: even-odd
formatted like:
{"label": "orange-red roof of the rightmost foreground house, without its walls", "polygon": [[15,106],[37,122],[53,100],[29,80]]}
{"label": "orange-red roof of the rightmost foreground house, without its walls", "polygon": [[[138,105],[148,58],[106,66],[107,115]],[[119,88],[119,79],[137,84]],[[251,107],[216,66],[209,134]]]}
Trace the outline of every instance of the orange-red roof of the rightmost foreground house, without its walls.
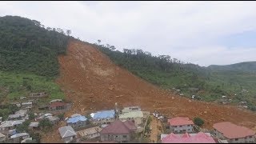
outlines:
{"label": "orange-red roof of the rightmost foreground house, without its walls", "polygon": [[238,126],[231,122],[219,122],[214,124],[214,129],[218,130],[226,138],[245,138],[253,136],[255,132],[244,126]]}

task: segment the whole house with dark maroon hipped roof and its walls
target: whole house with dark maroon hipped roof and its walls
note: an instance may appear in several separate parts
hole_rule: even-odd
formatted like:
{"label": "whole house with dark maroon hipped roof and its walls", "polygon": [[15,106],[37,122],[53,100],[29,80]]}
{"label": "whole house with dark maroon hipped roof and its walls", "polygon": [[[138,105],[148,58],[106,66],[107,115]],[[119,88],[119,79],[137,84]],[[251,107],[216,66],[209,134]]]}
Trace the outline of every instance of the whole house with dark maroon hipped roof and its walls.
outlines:
{"label": "whole house with dark maroon hipped roof and its walls", "polygon": [[102,129],[101,141],[130,142],[136,130],[134,122],[116,120]]}

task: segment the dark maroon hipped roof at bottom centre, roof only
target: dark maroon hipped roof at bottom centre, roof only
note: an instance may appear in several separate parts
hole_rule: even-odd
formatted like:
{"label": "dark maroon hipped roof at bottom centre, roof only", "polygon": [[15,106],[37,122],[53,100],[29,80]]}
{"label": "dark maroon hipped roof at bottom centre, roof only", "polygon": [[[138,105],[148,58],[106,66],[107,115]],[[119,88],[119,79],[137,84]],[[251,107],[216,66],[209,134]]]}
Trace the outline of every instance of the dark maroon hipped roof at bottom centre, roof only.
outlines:
{"label": "dark maroon hipped roof at bottom centre, roof only", "polygon": [[136,126],[134,122],[126,121],[122,122],[120,120],[116,120],[110,123],[109,126],[106,126],[100,132],[101,134],[129,134],[130,131],[136,130]]}

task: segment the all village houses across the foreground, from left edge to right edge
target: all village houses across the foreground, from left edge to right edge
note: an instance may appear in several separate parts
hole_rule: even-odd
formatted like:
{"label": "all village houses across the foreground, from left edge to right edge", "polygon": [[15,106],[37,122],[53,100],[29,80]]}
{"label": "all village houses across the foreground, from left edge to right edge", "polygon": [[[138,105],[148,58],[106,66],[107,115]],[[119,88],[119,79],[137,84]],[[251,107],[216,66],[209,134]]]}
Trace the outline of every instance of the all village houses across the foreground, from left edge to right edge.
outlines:
{"label": "all village houses across the foreground, from left edge to right edge", "polygon": [[[30,94],[30,98],[43,98],[46,93]],[[22,98],[24,99],[24,98]],[[242,104],[245,104],[243,102]],[[10,114],[7,119],[0,118],[0,143],[23,143],[32,140],[30,134],[18,133],[17,126],[29,119],[28,112],[33,102],[14,103],[20,110]],[[64,120],[66,126],[58,128],[58,133],[65,143],[69,142],[138,142],[136,134],[142,132],[146,126],[146,119],[150,112],[142,111],[140,106],[128,106],[119,109],[116,103],[114,110],[99,110],[90,115],[73,114],[69,118],[60,119],[54,116],[54,111],[69,110],[70,105],[61,99],[50,101],[47,105],[39,106],[38,110],[45,113],[34,113],[30,130],[39,130],[39,122],[43,118],[52,124]],[[153,116],[158,120],[166,118],[154,111]],[[255,142],[255,132],[244,126],[237,126],[231,122],[215,123],[213,130],[196,132],[195,125],[190,118],[176,117],[167,120],[170,134],[161,134],[162,143],[241,143]]]}

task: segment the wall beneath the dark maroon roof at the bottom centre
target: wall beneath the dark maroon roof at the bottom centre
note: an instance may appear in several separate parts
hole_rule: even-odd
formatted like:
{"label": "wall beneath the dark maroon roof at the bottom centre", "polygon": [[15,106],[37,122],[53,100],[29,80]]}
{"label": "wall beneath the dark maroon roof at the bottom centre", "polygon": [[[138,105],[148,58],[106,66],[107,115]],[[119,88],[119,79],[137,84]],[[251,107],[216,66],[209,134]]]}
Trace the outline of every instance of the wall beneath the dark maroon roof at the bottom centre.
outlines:
{"label": "wall beneath the dark maroon roof at the bottom centre", "polygon": [[101,134],[101,141],[129,142],[130,134]]}

